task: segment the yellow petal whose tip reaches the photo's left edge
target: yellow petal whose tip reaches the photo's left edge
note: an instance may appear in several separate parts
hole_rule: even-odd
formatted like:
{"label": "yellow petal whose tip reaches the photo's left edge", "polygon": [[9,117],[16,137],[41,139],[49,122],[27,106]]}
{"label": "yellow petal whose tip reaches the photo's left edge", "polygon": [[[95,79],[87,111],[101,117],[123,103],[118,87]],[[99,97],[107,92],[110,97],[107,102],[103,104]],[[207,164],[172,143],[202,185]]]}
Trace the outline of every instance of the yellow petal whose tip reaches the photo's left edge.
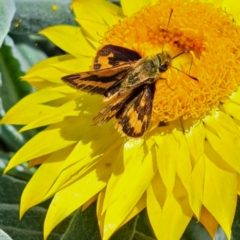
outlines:
{"label": "yellow petal whose tip reaches the photo's left edge", "polygon": [[35,119],[51,113],[55,109],[43,103],[63,97],[64,94],[52,92],[50,89],[43,89],[32,93],[14,105],[1,120],[1,124],[28,124]]}

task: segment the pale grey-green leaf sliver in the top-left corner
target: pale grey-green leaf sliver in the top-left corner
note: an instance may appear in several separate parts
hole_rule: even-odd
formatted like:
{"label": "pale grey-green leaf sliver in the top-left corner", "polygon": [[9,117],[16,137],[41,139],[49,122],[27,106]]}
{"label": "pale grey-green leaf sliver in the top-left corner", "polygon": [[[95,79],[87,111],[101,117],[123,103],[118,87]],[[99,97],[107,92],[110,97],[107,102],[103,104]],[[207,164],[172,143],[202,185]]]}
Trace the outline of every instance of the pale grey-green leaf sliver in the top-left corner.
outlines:
{"label": "pale grey-green leaf sliver in the top-left corner", "polygon": [[15,13],[14,0],[0,0],[0,47],[6,37],[10,26],[13,15]]}

